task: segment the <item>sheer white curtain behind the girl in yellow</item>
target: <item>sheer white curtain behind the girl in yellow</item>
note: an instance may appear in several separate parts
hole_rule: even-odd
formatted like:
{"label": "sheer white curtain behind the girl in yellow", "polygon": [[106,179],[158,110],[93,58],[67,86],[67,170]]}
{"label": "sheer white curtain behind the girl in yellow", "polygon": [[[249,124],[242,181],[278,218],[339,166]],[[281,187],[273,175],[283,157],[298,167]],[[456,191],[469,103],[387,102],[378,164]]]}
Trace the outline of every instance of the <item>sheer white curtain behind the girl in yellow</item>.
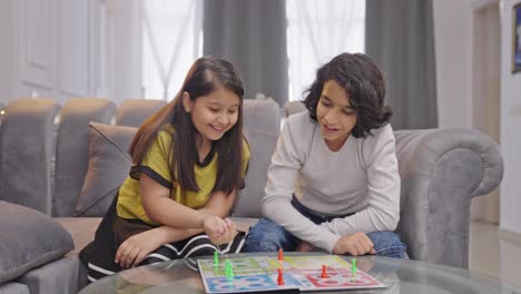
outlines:
{"label": "sheer white curtain behind the girl in yellow", "polygon": [[201,55],[201,0],[141,1],[142,97],[171,100]]}

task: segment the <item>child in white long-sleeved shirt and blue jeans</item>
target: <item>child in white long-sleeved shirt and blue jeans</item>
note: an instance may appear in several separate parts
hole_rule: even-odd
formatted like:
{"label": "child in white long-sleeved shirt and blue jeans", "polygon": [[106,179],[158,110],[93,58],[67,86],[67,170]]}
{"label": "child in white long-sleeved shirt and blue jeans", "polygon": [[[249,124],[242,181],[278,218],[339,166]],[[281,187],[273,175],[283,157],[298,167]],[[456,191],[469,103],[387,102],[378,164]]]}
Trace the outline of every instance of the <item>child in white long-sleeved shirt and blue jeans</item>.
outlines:
{"label": "child in white long-sleeved shirt and blue jeans", "polygon": [[405,257],[394,135],[382,74],[364,55],[318,69],[308,111],[287,118],[268,168],[263,215],[246,251]]}

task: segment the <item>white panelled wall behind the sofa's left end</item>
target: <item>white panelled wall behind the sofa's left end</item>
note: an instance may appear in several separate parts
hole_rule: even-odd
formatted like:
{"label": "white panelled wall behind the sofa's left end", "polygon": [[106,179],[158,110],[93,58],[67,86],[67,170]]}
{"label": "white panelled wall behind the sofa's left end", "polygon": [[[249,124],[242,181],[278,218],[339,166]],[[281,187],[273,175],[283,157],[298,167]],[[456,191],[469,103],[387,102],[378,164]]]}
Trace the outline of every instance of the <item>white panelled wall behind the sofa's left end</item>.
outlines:
{"label": "white panelled wall behind the sofa's left end", "polygon": [[137,0],[0,1],[0,101],[140,97],[139,8]]}

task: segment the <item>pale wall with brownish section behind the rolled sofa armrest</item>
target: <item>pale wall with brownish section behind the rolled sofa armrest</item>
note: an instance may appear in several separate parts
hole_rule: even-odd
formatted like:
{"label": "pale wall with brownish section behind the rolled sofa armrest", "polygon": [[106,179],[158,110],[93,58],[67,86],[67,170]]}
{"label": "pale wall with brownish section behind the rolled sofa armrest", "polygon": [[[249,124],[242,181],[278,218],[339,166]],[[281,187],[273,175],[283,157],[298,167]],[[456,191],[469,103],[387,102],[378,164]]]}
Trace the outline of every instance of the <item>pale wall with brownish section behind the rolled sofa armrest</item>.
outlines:
{"label": "pale wall with brownish section behind the rolled sofa armrest", "polygon": [[[439,125],[474,128],[500,143],[499,0],[436,0]],[[499,223],[495,189],[472,202],[473,220]]]}

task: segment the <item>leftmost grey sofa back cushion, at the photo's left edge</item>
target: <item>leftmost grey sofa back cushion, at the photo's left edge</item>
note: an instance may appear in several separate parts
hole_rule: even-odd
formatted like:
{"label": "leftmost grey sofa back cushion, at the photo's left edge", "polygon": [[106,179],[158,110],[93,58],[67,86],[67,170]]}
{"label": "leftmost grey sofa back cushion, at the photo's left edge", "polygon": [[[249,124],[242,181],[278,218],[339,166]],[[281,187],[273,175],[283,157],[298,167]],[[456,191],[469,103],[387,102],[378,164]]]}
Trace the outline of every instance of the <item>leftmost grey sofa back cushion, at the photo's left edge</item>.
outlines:
{"label": "leftmost grey sofa back cushion, at the photo's left edge", "polygon": [[0,126],[0,199],[51,213],[52,99],[9,104]]}

